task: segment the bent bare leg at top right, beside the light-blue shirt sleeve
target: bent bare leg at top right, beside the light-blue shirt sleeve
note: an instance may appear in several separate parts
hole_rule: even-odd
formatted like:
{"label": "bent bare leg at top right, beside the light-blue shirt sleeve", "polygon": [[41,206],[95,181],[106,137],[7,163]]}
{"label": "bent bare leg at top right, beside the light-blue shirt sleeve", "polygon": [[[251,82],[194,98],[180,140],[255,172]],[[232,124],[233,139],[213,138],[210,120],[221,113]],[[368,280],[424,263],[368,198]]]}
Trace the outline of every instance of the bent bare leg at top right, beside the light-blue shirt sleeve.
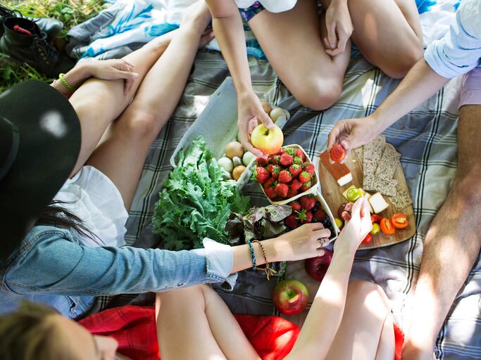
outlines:
{"label": "bent bare leg at top right, beside the light-blue shirt sleeve", "polygon": [[[331,0],[321,0],[328,6]],[[351,39],[363,56],[401,78],[423,57],[423,34],[414,0],[349,0]]]}

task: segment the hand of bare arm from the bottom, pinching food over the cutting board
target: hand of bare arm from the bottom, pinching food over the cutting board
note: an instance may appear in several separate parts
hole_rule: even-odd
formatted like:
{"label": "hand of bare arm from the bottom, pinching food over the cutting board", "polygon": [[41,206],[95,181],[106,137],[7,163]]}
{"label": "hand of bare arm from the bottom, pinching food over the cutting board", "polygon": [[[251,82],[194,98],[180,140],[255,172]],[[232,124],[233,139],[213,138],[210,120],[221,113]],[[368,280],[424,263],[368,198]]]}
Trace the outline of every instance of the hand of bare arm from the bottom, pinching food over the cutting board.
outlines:
{"label": "hand of bare arm from the bottom, pinching food over the cutting board", "polygon": [[367,201],[363,197],[352,206],[351,219],[346,221],[334,244],[335,252],[356,252],[366,235],[373,229]]}

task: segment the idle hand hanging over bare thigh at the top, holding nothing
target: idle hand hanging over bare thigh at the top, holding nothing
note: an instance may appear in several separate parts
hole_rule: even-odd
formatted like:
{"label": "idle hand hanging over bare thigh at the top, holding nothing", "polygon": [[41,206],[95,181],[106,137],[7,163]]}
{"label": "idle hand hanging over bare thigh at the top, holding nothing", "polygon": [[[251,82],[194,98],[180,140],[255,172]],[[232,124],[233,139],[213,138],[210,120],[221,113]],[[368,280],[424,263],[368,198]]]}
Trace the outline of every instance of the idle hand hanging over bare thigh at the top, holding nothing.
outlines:
{"label": "idle hand hanging over bare thigh at the top, holding nothing", "polygon": [[347,41],[354,30],[346,1],[331,1],[325,12],[327,38],[324,38],[325,52],[330,56],[339,55],[346,50]]}

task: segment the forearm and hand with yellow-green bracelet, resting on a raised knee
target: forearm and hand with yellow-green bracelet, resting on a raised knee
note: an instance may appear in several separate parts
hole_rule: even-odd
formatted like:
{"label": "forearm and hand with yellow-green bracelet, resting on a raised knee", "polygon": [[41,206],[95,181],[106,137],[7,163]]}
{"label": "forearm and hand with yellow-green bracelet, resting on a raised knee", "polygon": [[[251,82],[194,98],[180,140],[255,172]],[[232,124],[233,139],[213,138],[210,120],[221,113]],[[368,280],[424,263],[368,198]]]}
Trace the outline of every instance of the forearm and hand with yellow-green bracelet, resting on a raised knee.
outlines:
{"label": "forearm and hand with yellow-green bracelet, resting on a raised knee", "polygon": [[[96,77],[97,79],[103,80],[125,79],[124,93],[127,94],[132,87],[134,80],[139,77],[136,72],[132,72],[134,66],[135,65],[127,63],[127,61],[123,59],[92,60],[78,63],[75,65],[75,68],[63,76],[63,79],[75,89],[90,77]],[[54,80],[51,86],[54,86],[54,88],[65,96],[70,96],[75,91],[68,89],[61,79]]]}

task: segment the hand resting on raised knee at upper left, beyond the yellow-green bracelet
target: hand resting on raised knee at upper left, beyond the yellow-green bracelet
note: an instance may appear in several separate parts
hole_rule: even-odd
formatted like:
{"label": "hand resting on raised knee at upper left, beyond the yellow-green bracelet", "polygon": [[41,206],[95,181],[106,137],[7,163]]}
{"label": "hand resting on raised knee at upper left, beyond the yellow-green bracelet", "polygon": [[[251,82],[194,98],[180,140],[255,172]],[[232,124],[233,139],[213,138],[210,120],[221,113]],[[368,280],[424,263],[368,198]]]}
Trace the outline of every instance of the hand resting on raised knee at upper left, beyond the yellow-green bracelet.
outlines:
{"label": "hand resting on raised knee at upper left, beyond the yellow-green bracelet", "polygon": [[124,94],[127,95],[134,80],[139,77],[137,72],[132,72],[135,65],[123,59],[96,60],[84,63],[89,77],[101,80],[125,79]]}

